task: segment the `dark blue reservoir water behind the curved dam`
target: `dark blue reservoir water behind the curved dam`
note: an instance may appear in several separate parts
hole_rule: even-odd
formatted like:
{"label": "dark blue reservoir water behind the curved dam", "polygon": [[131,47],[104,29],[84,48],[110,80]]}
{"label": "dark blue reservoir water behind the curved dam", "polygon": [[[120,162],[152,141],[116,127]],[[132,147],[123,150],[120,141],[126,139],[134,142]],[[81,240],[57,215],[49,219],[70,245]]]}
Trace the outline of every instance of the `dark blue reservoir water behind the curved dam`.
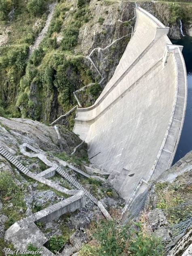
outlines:
{"label": "dark blue reservoir water behind the curved dam", "polygon": [[[181,27],[182,29],[182,27]],[[179,145],[173,160],[173,164],[192,150],[192,36],[185,36],[179,40],[172,40],[175,45],[183,45],[183,57],[186,62],[188,74],[188,98],[186,116],[181,132]]]}

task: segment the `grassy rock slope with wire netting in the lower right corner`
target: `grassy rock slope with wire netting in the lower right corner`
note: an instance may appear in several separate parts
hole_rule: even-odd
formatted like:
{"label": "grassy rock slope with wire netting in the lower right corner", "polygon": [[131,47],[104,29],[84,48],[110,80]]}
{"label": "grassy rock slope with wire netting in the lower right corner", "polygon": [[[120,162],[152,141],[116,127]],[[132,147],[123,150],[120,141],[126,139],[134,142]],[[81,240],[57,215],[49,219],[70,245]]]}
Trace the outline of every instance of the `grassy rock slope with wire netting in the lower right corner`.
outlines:
{"label": "grassy rock slope with wire netting in the lower right corner", "polygon": [[[156,237],[160,237],[166,245],[169,244],[171,250],[168,255],[170,256],[184,255],[183,252],[185,251],[186,255],[189,255],[187,252],[191,250],[189,247],[191,230],[190,228],[187,229],[188,223],[190,224],[190,213],[188,211],[192,207],[190,203],[191,171],[192,151],[170,169],[164,171],[148,190],[135,199],[129,209],[132,217],[134,216],[136,220],[144,216],[144,222],[149,232]],[[158,188],[161,189],[160,192],[158,192]],[[179,189],[182,189],[179,192],[180,194],[177,192]],[[187,191],[189,191],[189,194],[186,194]],[[161,196],[159,193],[162,193],[162,200],[159,199],[159,196]],[[183,196],[182,199],[181,196]],[[184,203],[182,203],[183,200]],[[173,204],[169,205],[167,202],[170,202],[170,204],[173,202]],[[163,203],[165,204],[163,205]],[[176,206],[174,206],[175,203]],[[176,220],[174,216],[177,216]]]}

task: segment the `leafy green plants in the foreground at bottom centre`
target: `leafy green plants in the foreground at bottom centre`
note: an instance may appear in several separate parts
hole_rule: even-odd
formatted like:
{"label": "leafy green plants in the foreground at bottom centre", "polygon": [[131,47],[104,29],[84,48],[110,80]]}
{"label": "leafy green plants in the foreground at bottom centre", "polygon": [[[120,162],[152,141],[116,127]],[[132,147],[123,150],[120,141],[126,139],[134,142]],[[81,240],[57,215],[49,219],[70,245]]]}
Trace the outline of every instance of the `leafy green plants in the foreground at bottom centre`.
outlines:
{"label": "leafy green plants in the foreground at bottom centre", "polygon": [[86,233],[88,243],[83,245],[79,256],[164,255],[161,241],[144,233],[141,223],[119,225],[116,214],[113,220],[92,222]]}

